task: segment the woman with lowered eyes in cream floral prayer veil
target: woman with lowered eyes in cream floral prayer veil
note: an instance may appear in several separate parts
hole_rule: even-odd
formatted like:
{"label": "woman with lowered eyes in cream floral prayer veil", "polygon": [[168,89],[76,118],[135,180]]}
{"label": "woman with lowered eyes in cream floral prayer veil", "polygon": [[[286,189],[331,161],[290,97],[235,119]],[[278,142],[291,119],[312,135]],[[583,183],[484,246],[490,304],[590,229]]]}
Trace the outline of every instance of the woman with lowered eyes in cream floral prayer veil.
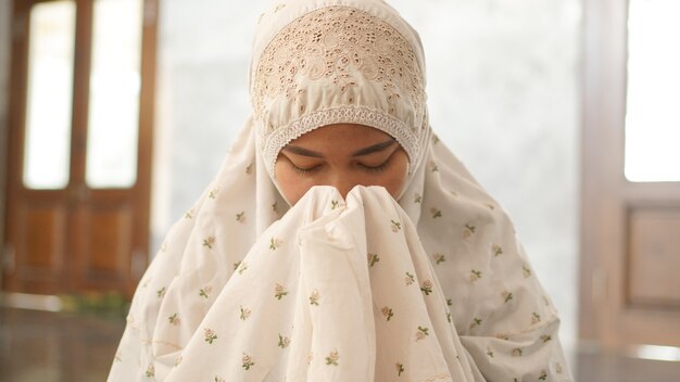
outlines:
{"label": "woman with lowered eyes in cream floral prayer veil", "polygon": [[253,104],[135,295],[111,381],[569,381],[512,224],[432,136],[380,0],[263,14]]}

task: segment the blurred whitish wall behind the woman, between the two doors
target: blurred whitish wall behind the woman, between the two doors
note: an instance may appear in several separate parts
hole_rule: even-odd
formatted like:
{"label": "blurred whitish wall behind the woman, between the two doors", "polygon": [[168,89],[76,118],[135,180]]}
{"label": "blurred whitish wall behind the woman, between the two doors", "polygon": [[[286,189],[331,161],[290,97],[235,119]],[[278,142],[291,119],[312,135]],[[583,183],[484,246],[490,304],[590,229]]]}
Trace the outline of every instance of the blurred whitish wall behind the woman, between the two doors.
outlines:
{"label": "blurred whitish wall behind the woman, between the two doors", "polygon": [[[153,231],[217,170],[249,114],[254,24],[269,1],[161,1]],[[576,341],[580,0],[391,0],[420,31],[431,123],[513,217]]]}

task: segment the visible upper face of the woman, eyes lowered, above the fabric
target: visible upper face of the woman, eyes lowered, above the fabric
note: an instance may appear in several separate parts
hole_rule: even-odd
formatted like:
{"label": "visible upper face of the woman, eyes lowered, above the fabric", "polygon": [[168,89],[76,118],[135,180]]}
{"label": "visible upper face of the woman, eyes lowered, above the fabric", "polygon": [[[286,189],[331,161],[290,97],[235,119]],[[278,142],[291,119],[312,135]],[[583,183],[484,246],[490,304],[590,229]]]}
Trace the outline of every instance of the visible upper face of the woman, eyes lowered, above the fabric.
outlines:
{"label": "visible upper face of the woman, eyes lowered, above the fabric", "polygon": [[276,180],[291,204],[314,186],[332,186],[342,196],[357,184],[382,186],[396,199],[407,176],[408,156],[394,138],[354,124],[310,131],[276,160]]}

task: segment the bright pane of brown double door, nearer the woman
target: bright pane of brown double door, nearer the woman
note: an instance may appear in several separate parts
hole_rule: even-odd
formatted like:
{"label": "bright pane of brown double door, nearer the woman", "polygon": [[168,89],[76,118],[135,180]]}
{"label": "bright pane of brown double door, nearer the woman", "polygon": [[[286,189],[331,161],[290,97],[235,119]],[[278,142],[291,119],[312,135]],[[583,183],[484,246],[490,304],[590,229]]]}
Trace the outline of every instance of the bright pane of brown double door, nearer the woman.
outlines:
{"label": "bright pane of brown double door, nearer the woman", "polygon": [[86,180],[128,188],[137,180],[141,0],[95,1]]}

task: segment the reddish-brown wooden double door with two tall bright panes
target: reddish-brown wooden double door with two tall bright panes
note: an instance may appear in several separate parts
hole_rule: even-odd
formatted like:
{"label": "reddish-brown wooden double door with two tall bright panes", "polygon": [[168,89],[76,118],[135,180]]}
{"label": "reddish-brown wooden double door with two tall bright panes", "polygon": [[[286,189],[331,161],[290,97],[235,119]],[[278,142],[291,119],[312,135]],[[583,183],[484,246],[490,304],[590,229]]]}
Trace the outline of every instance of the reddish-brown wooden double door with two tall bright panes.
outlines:
{"label": "reddish-brown wooden double door with two tall bright panes", "polygon": [[14,1],[5,291],[130,295],[146,268],[155,4]]}

